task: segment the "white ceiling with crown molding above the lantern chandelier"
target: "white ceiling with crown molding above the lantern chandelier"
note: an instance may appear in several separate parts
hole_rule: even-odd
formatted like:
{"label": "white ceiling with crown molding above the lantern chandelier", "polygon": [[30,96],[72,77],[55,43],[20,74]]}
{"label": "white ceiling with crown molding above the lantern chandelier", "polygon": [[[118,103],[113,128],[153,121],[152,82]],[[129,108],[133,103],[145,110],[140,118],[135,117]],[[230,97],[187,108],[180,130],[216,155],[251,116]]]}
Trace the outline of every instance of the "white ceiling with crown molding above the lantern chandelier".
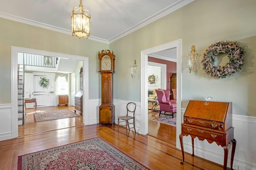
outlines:
{"label": "white ceiling with crown molding above the lantern chandelier", "polygon": [[[91,14],[88,39],[111,43],[194,0],[83,0]],[[2,0],[0,17],[71,35],[80,0]]]}

